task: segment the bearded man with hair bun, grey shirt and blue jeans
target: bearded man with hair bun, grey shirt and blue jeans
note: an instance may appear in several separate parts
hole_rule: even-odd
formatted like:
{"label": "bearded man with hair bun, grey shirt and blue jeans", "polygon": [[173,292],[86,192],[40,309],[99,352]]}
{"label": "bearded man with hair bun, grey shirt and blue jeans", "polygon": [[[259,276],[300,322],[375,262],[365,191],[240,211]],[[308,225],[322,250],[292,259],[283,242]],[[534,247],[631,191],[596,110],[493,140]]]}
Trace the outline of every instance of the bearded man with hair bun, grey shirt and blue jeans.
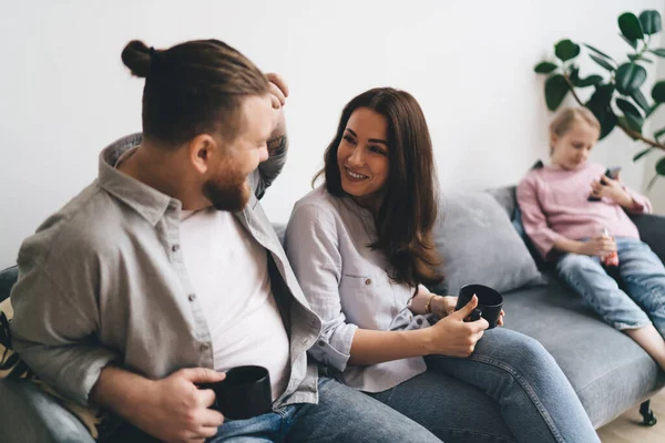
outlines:
{"label": "bearded man with hair bun, grey shirt and blue jeans", "polygon": [[[257,200],[285,162],[284,81],[215,40],[132,41],[122,59],[146,79],[143,133],[23,243],[24,361],[168,442],[438,441],[307,361],[320,320]],[[197,384],[242,364],[268,369],[273,412],[224,423]]]}

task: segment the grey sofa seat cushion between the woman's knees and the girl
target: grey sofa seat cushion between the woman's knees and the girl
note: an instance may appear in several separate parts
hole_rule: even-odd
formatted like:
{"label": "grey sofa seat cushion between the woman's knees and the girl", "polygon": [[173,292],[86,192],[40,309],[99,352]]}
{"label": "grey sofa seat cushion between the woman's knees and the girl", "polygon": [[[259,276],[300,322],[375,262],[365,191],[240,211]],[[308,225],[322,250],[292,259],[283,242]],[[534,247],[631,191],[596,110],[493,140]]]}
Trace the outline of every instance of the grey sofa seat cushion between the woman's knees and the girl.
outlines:
{"label": "grey sofa seat cushion between the woman's knees and the girl", "polygon": [[600,427],[665,384],[655,361],[555,278],[505,293],[505,327],[539,340]]}

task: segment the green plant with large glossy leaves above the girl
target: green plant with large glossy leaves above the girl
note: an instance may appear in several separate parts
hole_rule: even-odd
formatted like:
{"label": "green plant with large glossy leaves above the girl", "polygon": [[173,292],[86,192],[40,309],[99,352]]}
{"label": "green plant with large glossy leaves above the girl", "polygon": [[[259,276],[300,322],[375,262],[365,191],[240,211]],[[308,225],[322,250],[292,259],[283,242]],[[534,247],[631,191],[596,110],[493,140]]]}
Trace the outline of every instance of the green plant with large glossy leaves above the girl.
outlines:
{"label": "green plant with large glossy leaves above the girl", "polygon": [[[595,47],[582,43],[585,54],[605,71],[604,75],[581,78],[577,64],[581,45],[569,39],[559,41],[554,45],[556,59],[542,61],[534,68],[536,73],[548,75],[545,102],[550,111],[556,111],[567,93],[572,93],[577,103],[589,107],[601,122],[601,138],[618,127],[633,140],[646,145],[633,161],[652,152],[659,152],[658,150],[665,154],[665,126],[654,131],[652,135],[643,133],[646,119],[665,103],[665,80],[654,84],[651,100],[642,91],[647,78],[644,65],[653,63],[655,56],[665,58],[665,48],[654,48],[652,44],[652,37],[662,30],[661,14],[654,10],[643,11],[640,17],[631,12],[622,13],[618,17],[618,29],[620,35],[631,48],[626,54],[627,60],[621,63]],[[594,87],[585,103],[575,92],[580,87]],[[647,188],[651,188],[658,176],[665,176],[665,155],[656,162],[655,169],[656,174]]]}

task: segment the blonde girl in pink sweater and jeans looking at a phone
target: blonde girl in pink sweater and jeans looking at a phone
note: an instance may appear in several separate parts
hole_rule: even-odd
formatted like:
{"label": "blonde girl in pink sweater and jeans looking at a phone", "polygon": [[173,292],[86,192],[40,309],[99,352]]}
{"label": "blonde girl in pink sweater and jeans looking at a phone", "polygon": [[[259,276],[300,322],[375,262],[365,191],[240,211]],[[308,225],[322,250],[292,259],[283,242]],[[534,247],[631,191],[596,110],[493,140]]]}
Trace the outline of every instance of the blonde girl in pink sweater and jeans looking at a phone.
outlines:
{"label": "blonde girl in pink sweater and jeans looking at a phone", "polygon": [[[618,177],[606,177],[603,166],[586,162],[600,134],[591,111],[563,110],[550,134],[551,163],[532,169],[518,186],[524,230],[605,322],[665,368],[665,268],[626,215],[648,213],[651,204]],[[617,265],[626,291],[607,274],[607,264]]]}

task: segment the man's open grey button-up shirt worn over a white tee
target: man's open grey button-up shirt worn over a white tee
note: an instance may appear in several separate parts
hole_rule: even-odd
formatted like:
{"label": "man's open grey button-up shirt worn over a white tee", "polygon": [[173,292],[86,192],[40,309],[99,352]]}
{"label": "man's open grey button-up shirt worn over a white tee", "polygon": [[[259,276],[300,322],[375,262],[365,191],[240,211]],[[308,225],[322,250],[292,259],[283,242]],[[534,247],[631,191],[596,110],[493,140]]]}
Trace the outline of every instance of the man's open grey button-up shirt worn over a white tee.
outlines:
{"label": "man's open grey button-up shirt worn over a white tee", "polygon": [[[99,177],[19,253],[12,344],[37,375],[81,404],[110,363],[155,380],[213,368],[209,329],[180,247],[181,202],[114,167],[141,141],[130,135],[102,151]],[[306,351],[321,328],[256,197],[285,158],[276,153],[259,165],[249,177],[254,194],[235,214],[269,253],[270,286],[290,340],[290,379],[275,408],[317,402],[317,367]]]}

